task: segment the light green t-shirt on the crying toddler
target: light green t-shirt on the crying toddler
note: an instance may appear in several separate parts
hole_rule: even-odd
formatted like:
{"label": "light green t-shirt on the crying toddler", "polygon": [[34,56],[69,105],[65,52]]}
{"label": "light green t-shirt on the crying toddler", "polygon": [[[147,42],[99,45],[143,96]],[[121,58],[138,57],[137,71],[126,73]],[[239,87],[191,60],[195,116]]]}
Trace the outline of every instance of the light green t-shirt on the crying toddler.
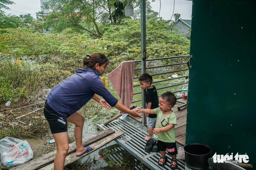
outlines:
{"label": "light green t-shirt on the crying toddler", "polygon": [[157,140],[160,140],[163,142],[174,143],[175,142],[174,128],[175,128],[175,125],[177,125],[176,114],[174,112],[171,112],[170,114],[163,114],[160,108],[154,109],[154,112],[157,115],[156,128],[161,128],[169,124],[174,124],[173,128],[171,128],[169,131],[160,132],[159,134],[154,135],[154,137]]}

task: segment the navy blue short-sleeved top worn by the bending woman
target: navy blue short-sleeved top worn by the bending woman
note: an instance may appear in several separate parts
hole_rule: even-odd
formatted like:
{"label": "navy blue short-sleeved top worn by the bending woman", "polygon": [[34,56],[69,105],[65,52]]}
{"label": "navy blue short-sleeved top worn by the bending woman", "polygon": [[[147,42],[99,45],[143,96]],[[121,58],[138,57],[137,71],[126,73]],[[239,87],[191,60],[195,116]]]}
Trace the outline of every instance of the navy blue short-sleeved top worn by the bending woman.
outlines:
{"label": "navy blue short-sleeved top worn by the bending woman", "polygon": [[75,74],[50,91],[47,103],[55,112],[69,116],[82,108],[95,93],[102,96],[112,107],[118,102],[101,81],[99,71],[78,68]]}

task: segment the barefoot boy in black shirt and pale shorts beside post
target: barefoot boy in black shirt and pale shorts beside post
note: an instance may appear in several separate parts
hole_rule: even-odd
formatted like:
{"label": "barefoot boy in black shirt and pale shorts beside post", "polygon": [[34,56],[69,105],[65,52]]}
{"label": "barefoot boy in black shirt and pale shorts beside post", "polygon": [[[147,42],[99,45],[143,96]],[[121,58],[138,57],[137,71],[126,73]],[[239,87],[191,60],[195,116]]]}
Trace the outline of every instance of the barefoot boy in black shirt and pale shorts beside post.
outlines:
{"label": "barefoot boy in black shirt and pale shorts beside post", "polygon": [[[158,108],[158,95],[155,86],[151,86],[152,84],[152,76],[148,73],[143,73],[139,77],[140,87],[146,91],[145,102],[147,102],[147,109],[155,109]],[[144,140],[149,140],[153,138],[153,125],[156,122],[156,114],[145,114],[147,116],[147,126],[148,126],[148,135],[145,136]]]}

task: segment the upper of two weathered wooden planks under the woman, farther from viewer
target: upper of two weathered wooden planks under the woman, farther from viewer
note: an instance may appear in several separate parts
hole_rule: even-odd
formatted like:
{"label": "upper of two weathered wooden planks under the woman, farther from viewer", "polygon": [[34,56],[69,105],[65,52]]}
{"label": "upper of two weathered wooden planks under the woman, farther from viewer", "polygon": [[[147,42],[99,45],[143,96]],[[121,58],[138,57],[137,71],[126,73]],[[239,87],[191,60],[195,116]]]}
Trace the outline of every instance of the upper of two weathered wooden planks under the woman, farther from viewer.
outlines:
{"label": "upper of two weathered wooden planks under the woman, farther from viewer", "polygon": [[[88,136],[86,138],[83,138],[83,140],[82,140],[83,146],[89,146],[92,143],[94,143],[98,140],[101,140],[101,139],[105,138],[106,136],[113,134],[113,133],[115,133],[114,130],[106,129],[102,132],[99,132],[99,133],[93,134],[91,136]],[[76,151],[75,142],[70,143],[68,154],[71,154],[75,151]],[[14,167],[14,168],[12,168],[12,170],[38,170],[42,167],[45,167],[46,165],[48,165],[50,163],[53,163],[55,155],[56,155],[56,150],[53,152],[50,152],[48,154],[45,154],[43,156],[40,156],[38,158],[35,158],[34,160],[23,163],[23,164],[19,165],[18,167]]]}

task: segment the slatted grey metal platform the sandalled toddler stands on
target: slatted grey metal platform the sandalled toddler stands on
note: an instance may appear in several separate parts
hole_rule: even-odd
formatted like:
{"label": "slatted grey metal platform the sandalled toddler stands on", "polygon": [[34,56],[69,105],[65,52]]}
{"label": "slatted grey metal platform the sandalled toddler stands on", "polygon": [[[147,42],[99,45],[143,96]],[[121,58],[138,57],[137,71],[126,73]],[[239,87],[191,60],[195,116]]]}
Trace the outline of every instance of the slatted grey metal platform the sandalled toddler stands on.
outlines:
{"label": "slatted grey metal platform the sandalled toddler stands on", "polygon": [[[171,156],[167,152],[166,152],[166,157],[168,158],[168,161],[166,165],[161,167],[157,164],[157,161],[161,156],[160,152],[147,153],[146,151],[144,151],[144,146],[146,145],[144,136],[147,136],[148,132],[142,130],[142,128],[140,128],[139,126],[134,125],[127,120],[115,120],[106,126],[103,124],[101,125],[97,124],[97,128],[99,128],[100,130],[105,130],[107,128],[110,128],[115,131],[118,131],[118,130],[123,131],[124,134],[119,138],[115,139],[115,141],[119,143],[120,146],[122,146],[124,149],[129,151],[130,154],[132,154],[134,157],[139,159],[144,165],[146,165],[151,170],[170,170]],[[125,142],[125,140],[123,139],[127,139],[128,141]],[[181,147],[177,143],[176,145],[177,145],[177,148]],[[185,170],[184,161],[178,160],[178,169]]]}

